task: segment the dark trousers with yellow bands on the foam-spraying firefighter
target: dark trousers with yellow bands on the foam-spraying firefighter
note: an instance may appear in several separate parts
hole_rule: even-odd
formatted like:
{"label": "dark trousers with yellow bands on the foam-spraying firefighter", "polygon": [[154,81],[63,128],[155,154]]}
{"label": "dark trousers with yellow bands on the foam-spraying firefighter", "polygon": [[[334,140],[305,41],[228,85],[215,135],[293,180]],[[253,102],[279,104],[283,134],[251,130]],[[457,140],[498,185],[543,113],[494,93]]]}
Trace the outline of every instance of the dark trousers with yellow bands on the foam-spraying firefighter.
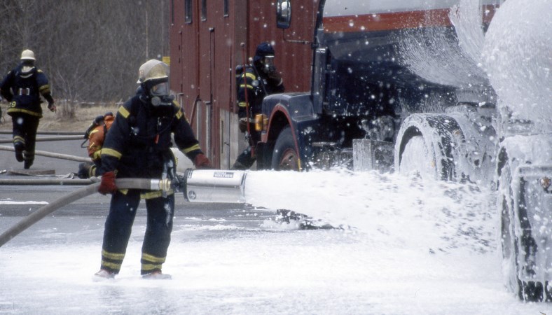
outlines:
{"label": "dark trousers with yellow bands on the foam-spraying firefighter", "polygon": [[[102,245],[102,269],[118,274],[125,258],[132,223],[140,202],[140,190],[117,191],[111,197]],[[146,235],[142,244],[141,274],[160,272],[167,257],[174,216],[174,195],[146,199]]]}

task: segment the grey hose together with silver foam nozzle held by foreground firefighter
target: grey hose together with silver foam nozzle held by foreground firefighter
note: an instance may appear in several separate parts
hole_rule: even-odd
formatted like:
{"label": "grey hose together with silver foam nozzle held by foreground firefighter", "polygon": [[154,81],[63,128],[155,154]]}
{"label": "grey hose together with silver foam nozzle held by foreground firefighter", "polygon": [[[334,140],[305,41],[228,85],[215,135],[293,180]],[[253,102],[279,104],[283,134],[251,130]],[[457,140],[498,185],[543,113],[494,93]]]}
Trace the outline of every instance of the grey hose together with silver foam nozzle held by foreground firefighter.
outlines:
{"label": "grey hose together with silver foam nozzle held by foreground firefighter", "polygon": [[[116,179],[115,184],[119,189],[162,190],[163,192],[172,190],[175,193],[184,193],[184,198],[189,202],[243,203],[245,202],[244,186],[246,174],[247,171],[221,171],[212,169],[198,171],[186,169],[184,175],[177,175],[177,178],[174,180]],[[48,216],[48,214],[71,202],[97,193],[98,187],[99,182],[92,183],[92,185],[76,190],[29,214],[29,216],[26,216],[0,235],[0,247],[20,234],[20,232],[27,230],[31,225]]]}

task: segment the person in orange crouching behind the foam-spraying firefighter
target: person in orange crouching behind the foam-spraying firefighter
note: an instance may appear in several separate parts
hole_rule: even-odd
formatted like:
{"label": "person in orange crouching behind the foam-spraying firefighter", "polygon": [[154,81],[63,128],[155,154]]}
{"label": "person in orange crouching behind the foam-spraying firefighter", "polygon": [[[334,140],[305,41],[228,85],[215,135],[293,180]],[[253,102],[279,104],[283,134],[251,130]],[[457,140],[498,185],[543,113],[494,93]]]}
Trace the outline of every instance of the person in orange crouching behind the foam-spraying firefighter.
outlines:
{"label": "person in orange crouching behind the foam-spraying firefighter", "polygon": [[97,169],[102,165],[102,146],[107,135],[107,131],[111,128],[111,124],[115,120],[113,113],[108,112],[104,115],[99,115],[90,124],[85,132],[85,138],[88,139],[88,156],[92,162],[81,163],[78,165],[77,176],[79,179],[88,179],[92,176],[97,176]]}

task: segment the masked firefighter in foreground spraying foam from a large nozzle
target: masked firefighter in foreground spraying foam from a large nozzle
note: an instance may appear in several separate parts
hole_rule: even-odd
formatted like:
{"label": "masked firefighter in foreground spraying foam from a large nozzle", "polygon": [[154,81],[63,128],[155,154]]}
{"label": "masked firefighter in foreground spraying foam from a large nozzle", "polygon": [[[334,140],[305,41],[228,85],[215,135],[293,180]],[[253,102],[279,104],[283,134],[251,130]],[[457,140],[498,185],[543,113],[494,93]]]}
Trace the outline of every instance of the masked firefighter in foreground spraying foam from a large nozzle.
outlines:
{"label": "masked firefighter in foreground spraying foam from a large nozzle", "polygon": [[139,68],[141,92],[120,106],[102,147],[99,193],[112,194],[102,245],[101,269],[95,276],[118,274],[141,198],[146,200],[147,224],[142,244],[141,274],[170,279],[161,272],[167,256],[174,216],[174,193],[118,190],[117,178],[172,179],[176,161],[171,135],[196,168],[211,168],[179,104],[169,93],[168,66],[151,59]]}

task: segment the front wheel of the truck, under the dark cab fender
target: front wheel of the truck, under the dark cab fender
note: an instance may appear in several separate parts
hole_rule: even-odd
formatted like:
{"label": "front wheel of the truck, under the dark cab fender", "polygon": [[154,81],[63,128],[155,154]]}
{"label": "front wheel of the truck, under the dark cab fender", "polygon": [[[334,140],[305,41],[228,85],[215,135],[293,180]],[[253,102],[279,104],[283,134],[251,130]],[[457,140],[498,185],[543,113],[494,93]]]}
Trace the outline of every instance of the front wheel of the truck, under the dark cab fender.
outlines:
{"label": "front wheel of the truck, under the dark cab fender", "polygon": [[272,169],[277,171],[299,170],[299,155],[295,148],[294,135],[290,127],[285,127],[274,145],[272,152]]}

